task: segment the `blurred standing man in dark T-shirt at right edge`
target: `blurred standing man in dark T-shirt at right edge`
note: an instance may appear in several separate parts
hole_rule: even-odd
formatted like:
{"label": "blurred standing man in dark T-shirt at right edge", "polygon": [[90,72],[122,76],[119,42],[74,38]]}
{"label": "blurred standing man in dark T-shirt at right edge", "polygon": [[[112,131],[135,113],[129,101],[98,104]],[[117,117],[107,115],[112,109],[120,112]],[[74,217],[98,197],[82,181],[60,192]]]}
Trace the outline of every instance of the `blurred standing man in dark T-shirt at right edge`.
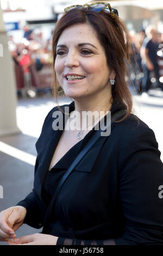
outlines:
{"label": "blurred standing man in dark T-shirt at right edge", "polygon": [[162,84],[159,81],[160,75],[157,56],[159,45],[155,26],[149,25],[146,28],[146,35],[147,38],[143,41],[140,51],[142,58],[142,71],[144,75],[142,79],[142,96],[148,96],[148,90],[151,87],[151,71],[154,71],[158,87],[163,90]]}

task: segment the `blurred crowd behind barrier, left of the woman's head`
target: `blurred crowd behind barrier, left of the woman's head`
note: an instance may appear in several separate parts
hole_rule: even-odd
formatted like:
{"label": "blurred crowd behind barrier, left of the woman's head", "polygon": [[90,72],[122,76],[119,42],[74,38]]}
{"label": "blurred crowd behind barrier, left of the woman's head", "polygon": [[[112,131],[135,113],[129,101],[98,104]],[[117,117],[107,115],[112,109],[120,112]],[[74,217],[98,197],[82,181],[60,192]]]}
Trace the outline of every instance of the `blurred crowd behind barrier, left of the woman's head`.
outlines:
{"label": "blurred crowd behind barrier, left of the woman's head", "polygon": [[[45,40],[42,32],[37,32],[35,29],[32,30],[26,25],[23,27],[21,42],[17,44],[13,36],[10,35],[8,45],[14,66],[21,67],[23,71],[24,86],[21,88],[21,93],[23,94],[22,96],[27,96],[28,92],[31,92],[32,89],[34,90],[30,67],[34,66],[35,70],[39,72],[44,66],[51,66],[52,36]],[[17,89],[20,87],[17,84]],[[50,87],[51,83],[49,83]]]}

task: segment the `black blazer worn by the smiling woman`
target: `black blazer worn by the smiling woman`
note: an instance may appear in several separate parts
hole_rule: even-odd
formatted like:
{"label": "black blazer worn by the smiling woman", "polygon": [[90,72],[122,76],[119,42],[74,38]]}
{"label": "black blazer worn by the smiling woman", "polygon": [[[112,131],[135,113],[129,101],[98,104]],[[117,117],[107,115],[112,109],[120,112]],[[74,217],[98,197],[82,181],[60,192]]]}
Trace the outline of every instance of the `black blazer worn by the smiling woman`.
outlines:
{"label": "black blazer worn by the smiling woman", "polygon": [[[65,106],[74,110],[74,102]],[[111,115],[122,108],[114,103]],[[91,240],[107,239],[116,245],[163,244],[163,164],[154,132],[134,114],[112,124],[110,136],[93,145],[62,186],[45,221],[42,187],[62,133],[52,128],[54,111],[58,107],[48,113],[36,142],[33,191],[17,204],[27,209],[24,223],[43,227],[45,234],[90,240],[90,245]]]}

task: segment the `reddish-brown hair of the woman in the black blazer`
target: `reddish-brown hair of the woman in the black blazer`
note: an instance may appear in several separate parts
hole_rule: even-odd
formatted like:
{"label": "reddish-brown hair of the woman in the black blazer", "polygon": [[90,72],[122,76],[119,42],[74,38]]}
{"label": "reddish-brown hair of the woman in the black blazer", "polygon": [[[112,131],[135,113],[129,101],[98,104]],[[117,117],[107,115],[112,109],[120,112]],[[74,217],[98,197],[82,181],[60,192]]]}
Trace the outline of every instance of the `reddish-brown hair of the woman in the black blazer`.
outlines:
{"label": "reddish-brown hair of the woman in the black blazer", "polygon": [[[104,48],[106,60],[110,69],[116,71],[116,82],[111,86],[112,99],[114,101],[123,103],[124,108],[127,109],[126,115],[119,120],[126,119],[131,113],[133,107],[133,100],[129,92],[128,84],[126,82],[127,64],[130,64],[130,44],[128,31],[121,19],[115,15],[112,19],[110,13],[102,11],[97,13],[95,11],[83,8],[74,8],[67,11],[60,20],[58,20],[53,31],[53,94],[58,103],[57,95],[59,95],[59,84],[57,84],[57,77],[54,70],[55,58],[57,56],[56,47],[61,33],[68,27],[78,23],[86,23],[95,29],[99,42]],[[62,93],[62,91],[60,91]],[[59,104],[58,104],[59,107]],[[60,108],[60,107],[59,107]]]}

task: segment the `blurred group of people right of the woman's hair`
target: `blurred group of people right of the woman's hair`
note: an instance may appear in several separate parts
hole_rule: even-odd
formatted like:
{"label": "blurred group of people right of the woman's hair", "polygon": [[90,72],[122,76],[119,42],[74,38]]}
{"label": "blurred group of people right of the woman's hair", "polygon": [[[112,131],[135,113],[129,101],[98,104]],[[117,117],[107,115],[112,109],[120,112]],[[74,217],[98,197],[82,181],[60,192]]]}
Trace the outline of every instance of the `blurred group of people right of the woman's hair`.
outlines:
{"label": "blurred group of people right of the woman's hair", "polygon": [[163,33],[149,25],[139,33],[130,31],[129,35],[133,52],[128,69],[137,92],[146,97],[150,88],[163,90]]}

